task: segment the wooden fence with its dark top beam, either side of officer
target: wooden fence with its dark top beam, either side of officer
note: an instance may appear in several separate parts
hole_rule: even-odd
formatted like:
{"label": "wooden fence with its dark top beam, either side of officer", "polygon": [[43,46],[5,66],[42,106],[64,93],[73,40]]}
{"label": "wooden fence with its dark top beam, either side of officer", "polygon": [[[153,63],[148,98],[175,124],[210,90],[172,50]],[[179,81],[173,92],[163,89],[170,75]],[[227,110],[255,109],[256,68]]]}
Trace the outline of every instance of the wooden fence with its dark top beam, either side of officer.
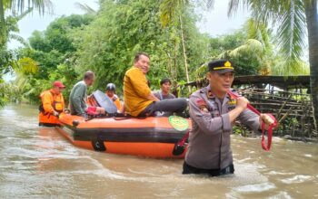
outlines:
{"label": "wooden fence with its dark top beam, either side of officer", "polygon": [[[280,128],[274,131],[276,136],[306,137],[302,139],[306,140],[318,137],[313,125],[312,102],[307,94],[309,79],[309,76],[241,76],[235,77],[234,89],[256,109],[277,118]],[[189,82],[183,88],[190,86],[195,90],[207,84],[206,79],[202,79]]]}

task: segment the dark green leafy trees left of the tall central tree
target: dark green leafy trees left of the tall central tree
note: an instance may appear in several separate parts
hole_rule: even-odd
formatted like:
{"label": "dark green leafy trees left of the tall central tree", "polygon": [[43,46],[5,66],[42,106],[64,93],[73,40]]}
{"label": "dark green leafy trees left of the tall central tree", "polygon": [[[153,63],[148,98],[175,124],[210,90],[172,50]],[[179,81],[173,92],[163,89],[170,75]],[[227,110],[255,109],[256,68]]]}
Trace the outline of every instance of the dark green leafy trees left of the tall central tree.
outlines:
{"label": "dark green leafy trees left of the tall central tree", "polygon": [[35,31],[29,39],[30,47],[19,51],[19,64],[15,68],[15,85],[21,90],[21,100],[39,100],[42,91],[52,87],[52,82],[67,85],[65,100],[78,74],[75,73],[76,47],[70,35],[92,21],[88,14],[62,16],[49,24],[44,32]]}

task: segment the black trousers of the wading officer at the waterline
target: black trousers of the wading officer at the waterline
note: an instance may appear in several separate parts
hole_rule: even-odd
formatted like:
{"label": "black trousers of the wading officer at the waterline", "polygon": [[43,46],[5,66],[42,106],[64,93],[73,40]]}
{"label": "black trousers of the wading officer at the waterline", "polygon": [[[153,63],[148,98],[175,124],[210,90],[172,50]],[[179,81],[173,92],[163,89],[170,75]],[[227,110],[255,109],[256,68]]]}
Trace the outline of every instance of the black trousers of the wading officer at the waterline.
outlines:
{"label": "black trousers of the wading officer at the waterline", "polygon": [[224,169],[204,169],[204,168],[197,168],[194,166],[189,166],[184,161],[183,174],[184,175],[187,175],[187,174],[206,174],[206,175],[210,175],[210,176],[234,174],[234,165],[231,164],[230,166],[226,166]]}

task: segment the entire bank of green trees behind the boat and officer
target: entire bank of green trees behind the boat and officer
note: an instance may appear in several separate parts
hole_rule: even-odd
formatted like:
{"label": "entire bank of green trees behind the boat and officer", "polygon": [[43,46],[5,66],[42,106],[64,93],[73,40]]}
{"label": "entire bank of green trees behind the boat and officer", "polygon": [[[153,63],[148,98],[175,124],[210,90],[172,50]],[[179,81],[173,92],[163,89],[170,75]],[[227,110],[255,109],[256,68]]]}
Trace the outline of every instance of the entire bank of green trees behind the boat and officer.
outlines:
{"label": "entire bank of green trees behind the boat and officer", "polygon": [[[233,61],[237,75],[283,72],[283,68],[278,67],[271,70],[271,66],[283,62],[283,56],[274,55],[272,31],[266,24],[250,19],[241,30],[211,38],[199,33],[195,25],[198,16],[191,1],[162,0],[160,3],[104,0],[100,2],[99,11],[86,7],[91,14],[62,16],[44,32],[35,31],[29,39],[30,46],[25,45],[17,56],[20,62],[15,70],[15,84],[23,98],[38,100],[40,92],[57,80],[67,86],[67,96],[75,81],[87,70],[96,73],[93,89],[104,90],[107,83],[114,82],[121,93],[124,72],[133,65],[135,52],[147,52],[151,57],[147,77],[152,89],[158,89],[157,82],[169,77],[174,85],[180,85],[176,91],[185,96],[194,90],[182,92],[187,88],[184,86],[184,52],[191,81],[204,77],[204,63],[218,58]],[[170,9],[171,4],[176,9]],[[22,65],[28,66],[30,72],[23,71]],[[305,67],[303,69],[305,71]]]}

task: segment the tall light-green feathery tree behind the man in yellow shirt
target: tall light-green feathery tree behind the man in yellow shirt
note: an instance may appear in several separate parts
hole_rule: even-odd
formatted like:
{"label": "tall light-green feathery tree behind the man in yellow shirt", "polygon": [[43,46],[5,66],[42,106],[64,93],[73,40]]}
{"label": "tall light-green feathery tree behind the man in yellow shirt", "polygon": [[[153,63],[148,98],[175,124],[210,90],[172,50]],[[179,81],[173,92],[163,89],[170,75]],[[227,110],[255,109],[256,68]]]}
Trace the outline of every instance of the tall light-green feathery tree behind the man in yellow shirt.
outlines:
{"label": "tall light-green feathery tree behind the man in yellow shirt", "polygon": [[[194,14],[184,14],[184,35],[189,62],[195,65],[204,58],[206,38],[195,27]],[[123,85],[124,72],[133,65],[135,52],[151,56],[148,74],[152,85],[164,77],[184,79],[184,63],[179,30],[162,27],[159,5],[151,0],[104,1],[101,10],[83,32],[74,33],[79,60],[76,71],[95,71],[95,88],[104,89],[108,82]],[[157,87],[156,87],[157,88]]]}

